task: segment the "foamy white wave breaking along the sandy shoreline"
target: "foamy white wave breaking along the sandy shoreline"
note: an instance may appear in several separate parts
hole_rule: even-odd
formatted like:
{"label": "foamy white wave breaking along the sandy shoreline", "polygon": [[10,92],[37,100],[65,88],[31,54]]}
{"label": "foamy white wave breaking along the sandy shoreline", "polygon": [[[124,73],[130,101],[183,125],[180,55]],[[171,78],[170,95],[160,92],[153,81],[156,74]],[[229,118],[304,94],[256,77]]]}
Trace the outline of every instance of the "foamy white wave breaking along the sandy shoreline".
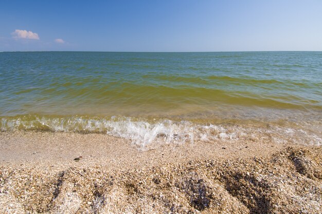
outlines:
{"label": "foamy white wave breaking along the sandy shoreline", "polygon": [[321,145],[322,138],[308,130],[281,127],[276,124],[197,123],[171,119],[147,119],[124,116],[40,116],[19,115],[1,117],[0,130],[19,130],[102,133],[130,139],[140,148],[160,144],[185,144],[194,141],[291,141],[300,144]]}

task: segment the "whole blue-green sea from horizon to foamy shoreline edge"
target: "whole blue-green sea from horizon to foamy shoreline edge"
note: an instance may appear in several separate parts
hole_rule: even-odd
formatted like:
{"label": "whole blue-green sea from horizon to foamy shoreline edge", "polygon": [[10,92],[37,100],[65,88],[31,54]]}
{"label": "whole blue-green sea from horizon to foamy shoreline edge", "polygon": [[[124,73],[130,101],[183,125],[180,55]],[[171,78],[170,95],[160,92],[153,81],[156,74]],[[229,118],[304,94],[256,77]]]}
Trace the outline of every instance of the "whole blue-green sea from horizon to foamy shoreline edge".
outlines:
{"label": "whole blue-green sea from horizon to foamy shoreline edge", "polygon": [[322,142],[322,52],[0,52],[1,131]]}

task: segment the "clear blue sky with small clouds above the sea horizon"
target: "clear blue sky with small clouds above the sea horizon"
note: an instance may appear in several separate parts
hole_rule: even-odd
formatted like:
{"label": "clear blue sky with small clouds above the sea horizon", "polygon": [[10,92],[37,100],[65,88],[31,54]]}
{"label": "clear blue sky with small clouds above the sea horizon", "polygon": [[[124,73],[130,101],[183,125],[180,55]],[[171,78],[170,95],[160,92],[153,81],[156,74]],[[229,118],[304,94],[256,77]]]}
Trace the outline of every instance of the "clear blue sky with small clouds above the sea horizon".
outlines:
{"label": "clear blue sky with small clouds above the sea horizon", "polygon": [[0,51],[322,50],[320,0],[0,1]]}

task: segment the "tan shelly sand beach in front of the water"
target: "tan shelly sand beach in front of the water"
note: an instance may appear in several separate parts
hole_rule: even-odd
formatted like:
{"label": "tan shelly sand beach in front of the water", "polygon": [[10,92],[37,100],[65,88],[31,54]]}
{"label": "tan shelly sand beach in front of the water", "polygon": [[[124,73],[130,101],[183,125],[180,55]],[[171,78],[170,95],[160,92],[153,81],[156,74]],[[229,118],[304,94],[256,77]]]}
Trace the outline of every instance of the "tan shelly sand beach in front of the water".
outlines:
{"label": "tan shelly sand beach in front of the water", "polygon": [[1,213],[319,213],[320,146],[0,133]]}

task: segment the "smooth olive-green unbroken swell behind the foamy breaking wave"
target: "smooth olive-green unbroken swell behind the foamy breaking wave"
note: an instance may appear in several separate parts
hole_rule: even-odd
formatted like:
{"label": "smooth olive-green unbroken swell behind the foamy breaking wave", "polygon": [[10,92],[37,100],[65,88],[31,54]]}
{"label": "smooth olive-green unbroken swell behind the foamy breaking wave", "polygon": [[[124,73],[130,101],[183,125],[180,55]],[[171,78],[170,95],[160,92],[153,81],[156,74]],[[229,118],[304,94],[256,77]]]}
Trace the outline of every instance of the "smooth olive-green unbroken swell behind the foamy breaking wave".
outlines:
{"label": "smooth olive-green unbroken swell behind the foamy breaking wave", "polygon": [[[187,79],[185,77],[181,80]],[[19,92],[23,93],[23,92]],[[246,91],[228,91],[220,88],[210,88],[202,86],[189,85],[149,85],[137,84],[131,82],[115,83],[111,82],[100,87],[82,87],[82,88],[60,88],[55,90],[47,88],[41,92],[42,96],[64,97],[66,100],[88,99],[93,102],[126,104],[173,104],[180,105],[184,103],[199,103],[201,106],[208,103],[224,103],[243,106],[263,106],[272,108],[286,109],[321,109],[319,101],[292,96],[289,94],[280,94],[280,96],[260,96],[256,92]],[[278,95],[278,94],[277,94]],[[83,101],[83,100],[81,100]],[[164,102],[167,101],[167,102]],[[315,101],[315,102],[311,102]],[[313,104],[312,104],[313,103]],[[315,103],[315,104],[314,104]]]}

